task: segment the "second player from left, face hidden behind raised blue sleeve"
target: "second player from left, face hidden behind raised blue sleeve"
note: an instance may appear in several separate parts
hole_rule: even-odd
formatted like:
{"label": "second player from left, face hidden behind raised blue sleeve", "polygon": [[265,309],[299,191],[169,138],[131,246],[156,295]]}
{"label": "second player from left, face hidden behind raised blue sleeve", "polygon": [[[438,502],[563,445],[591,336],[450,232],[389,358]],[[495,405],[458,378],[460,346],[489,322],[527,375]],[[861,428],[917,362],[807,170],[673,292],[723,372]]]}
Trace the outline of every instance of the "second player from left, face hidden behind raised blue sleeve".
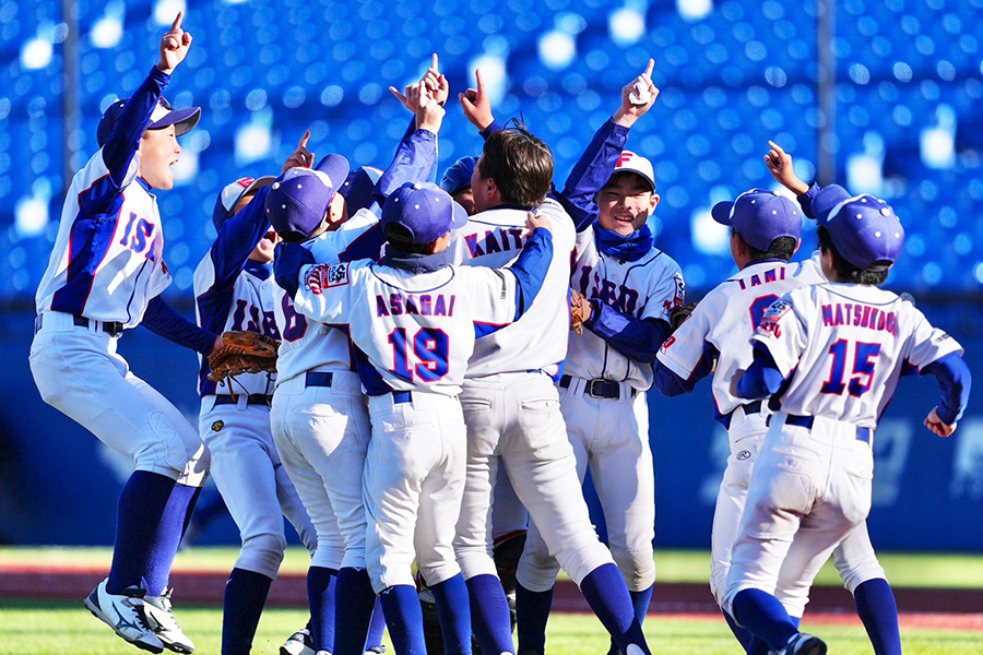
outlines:
{"label": "second player from left, face hidden behind raised blue sleeve", "polygon": [[[307,138],[309,132],[301,147]],[[263,212],[274,179],[244,178],[218,194],[212,213],[217,238],[194,272],[198,324],[205,330],[220,334],[249,330],[280,340],[273,298],[264,293],[279,240]],[[251,243],[254,246],[250,248]],[[271,376],[244,373],[220,386],[209,380],[208,372],[209,364],[202,359],[199,431],[212,453],[215,485],[242,540],[225,585],[222,654],[248,655],[270,585],[283,561],[283,516],[311,555],[317,550],[317,538],[273,444]]]}

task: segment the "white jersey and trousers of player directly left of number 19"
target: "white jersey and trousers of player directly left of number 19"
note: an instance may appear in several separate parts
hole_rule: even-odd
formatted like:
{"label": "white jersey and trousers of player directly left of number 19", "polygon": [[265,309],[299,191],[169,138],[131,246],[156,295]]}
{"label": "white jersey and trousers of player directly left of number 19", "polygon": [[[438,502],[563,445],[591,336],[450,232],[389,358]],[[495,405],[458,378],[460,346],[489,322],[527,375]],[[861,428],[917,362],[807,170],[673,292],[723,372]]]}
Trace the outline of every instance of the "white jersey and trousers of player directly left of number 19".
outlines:
{"label": "white jersey and trousers of player directly left of number 19", "polygon": [[[360,210],[339,229],[304,246],[318,262],[337,262],[358,251],[377,224],[375,214]],[[362,476],[371,428],[347,331],[308,320],[273,279],[268,284],[282,340],[273,438],[317,529],[312,563],[365,568]]]}

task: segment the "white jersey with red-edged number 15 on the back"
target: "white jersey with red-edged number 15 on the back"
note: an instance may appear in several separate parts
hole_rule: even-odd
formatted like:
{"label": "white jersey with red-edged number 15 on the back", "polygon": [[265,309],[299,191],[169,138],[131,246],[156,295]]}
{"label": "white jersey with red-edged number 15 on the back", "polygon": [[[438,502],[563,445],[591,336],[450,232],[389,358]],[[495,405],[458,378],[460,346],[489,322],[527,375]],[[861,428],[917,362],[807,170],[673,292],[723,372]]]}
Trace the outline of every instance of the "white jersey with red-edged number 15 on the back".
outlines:
{"label": "white jersey with red-edged number 15 on the back", "polygon": [[914,305],[873,286],[793,289],[765,311],[754,341],[787,389],[772,408],[874,429],[904,365],[922,368],[962,347]]}

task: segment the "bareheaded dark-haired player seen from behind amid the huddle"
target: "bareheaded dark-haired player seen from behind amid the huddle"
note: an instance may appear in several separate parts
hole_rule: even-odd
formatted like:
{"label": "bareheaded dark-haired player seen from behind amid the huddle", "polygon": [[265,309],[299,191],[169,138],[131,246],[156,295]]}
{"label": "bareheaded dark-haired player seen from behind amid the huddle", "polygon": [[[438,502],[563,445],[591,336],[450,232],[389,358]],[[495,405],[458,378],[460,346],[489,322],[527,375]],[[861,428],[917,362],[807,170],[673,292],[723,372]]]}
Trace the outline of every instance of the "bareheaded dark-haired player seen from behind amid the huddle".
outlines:
{"label": "bareheaded dark-haired player seen from behind amid the huddle", "polygon": [[[483,135],[472,177],[476,214],[454,235],[454,261],[501,266],[519,252],[521,216],[548,216],[554,258],[537,302],[520,321],[478,340],[461,393],[467,424],[467,481],[454,550],[474,603],[475,635],[485,653],[513,653],[509,608],[490,556],[489,505],[499,462],[549,552],[625,653],[648,652],[631,598],[611,552],[597,539],[577,476],[555,386],[567,353],[567,296],[575,229],[558,202],[547,200],[553,154],[521,123],[492,130],[484,92],[459,95]],[[519,626],[520,640],[522,627]]]}

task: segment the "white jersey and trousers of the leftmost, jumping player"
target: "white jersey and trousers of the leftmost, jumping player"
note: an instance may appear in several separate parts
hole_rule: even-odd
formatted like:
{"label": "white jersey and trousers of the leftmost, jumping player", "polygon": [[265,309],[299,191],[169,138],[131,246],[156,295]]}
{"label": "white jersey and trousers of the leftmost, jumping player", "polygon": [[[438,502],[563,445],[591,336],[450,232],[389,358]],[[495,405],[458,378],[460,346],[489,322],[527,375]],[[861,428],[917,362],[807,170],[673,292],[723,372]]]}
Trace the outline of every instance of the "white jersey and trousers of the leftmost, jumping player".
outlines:
{"label": "white jersey and trousers of the leftmost, jumping player", "polygon": [[[139,135],[137,136],[139,139]],[[156,198],[139,158],[115,162],[100,150],[75,174],[48,270],[37,289],[38,331],[31,370],[46,403],[134,458],[137,469],[187,486],[204,484],[209,455],[198,430],[117,354],[111,322],[140,323],[170,283]]]}

